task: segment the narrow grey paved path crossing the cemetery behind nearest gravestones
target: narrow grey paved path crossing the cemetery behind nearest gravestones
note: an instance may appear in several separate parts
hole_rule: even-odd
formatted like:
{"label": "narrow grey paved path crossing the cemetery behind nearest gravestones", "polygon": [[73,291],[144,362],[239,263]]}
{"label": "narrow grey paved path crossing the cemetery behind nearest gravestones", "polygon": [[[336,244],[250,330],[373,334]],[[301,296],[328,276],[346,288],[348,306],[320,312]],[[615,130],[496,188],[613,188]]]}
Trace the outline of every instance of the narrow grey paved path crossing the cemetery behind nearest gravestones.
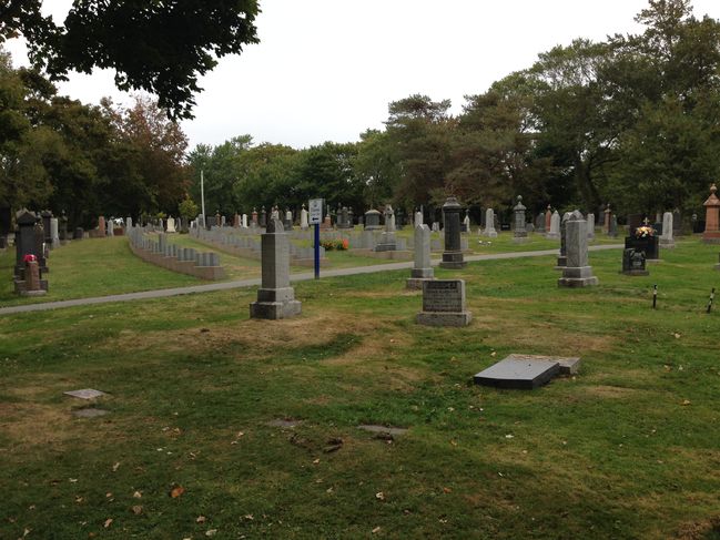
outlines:
{"label": "narrow grey paved path crossing the cemetery behind nearest gravestones", "polygon": [[[619,249],[619,248],[622,248],[622,244],[606,244],[599,246],[590,246],[588,249],[591,252],[599,252],[605,249]],[[547,255],[557,255],[557,253],[558,251],[556,248],[556,249],[542,249],[537,252],[496,253],[493,255],[466,255],[465,261],[471,263],[476,261],[498,261],[504,258],[544,257]],[[437,266],[438,263],[439,259],[432,262],[433,266]],[[373,266],[356,266],[353,268],[339,268],[339,269],[329,269],[329,271],[321,269],[321,277],[374,274],[376,272],[405,269],[412,267],[413,267],[413,262],[402,262],[402,263],[377,264]],[[305,282],[308,279],[313,279],[314,277],[315,277],[314,273],[305,272],[303,274],[291,274],[290,281]],[[190,287],[161,288],[158,291],[144,291],[142,293],[97,296],[94,298],[75,298],[72,300],[44,302],[41,304],[28,304],[24,306],[2,307],[0,308],[0,315],[12,315],[16,313],[28,313],[28,312],[44,312],[47,309],[59,309],[62,307],[74,307],[74,306],[90,306],[93,304],[109,304],[111,302],[130,302],[130,300],[148,299],[148,298],[164,298],[168,296],[179,296],[182,294],[210,293],[213,291],[227,291],[232,288],[254,287],[257,285],[260,285],[260,277],[253,279],[239,279],[235,282],[211,283],[207,285],[193,285]]]}

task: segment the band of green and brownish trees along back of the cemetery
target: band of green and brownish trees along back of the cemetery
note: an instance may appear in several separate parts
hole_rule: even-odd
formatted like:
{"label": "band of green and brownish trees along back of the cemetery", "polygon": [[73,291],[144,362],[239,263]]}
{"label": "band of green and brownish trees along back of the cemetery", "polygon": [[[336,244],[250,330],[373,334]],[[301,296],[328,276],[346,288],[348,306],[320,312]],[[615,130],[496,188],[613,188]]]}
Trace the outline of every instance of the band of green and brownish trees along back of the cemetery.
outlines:
{"label": "band of green and brownish trees along back of the cemetery", "polygon": [[518,194],[534,212],[698,212],[720,170],[720,22],[689,0],[650,0],[636,19],[640,33],[540,53],[459,114],[410,95],[389,104],[384,129],[302,150],[244,134],[185,153],[152,100],[83,105],[3,54],[0,205],[65,208],[81,224],[176,214],[186,194],[200,203],[202,170],[206,212],[225,215],[311,197],[409,212],[449,194],[499,212]]}

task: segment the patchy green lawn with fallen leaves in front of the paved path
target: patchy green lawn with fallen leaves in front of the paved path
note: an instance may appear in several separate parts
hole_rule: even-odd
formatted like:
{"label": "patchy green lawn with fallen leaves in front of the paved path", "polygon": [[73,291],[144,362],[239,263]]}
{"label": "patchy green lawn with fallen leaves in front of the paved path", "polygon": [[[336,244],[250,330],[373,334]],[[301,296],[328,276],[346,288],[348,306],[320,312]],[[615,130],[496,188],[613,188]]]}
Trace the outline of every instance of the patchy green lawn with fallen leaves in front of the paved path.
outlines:
{"label": "patchy green lawn with fallen leaves in front of the paved path", "polygon": [[[718,539],[717,251],[591,253],[587,289],[551,256],[436,269],[465,328],[414,323],[408,271],[296,284],[280,322],[254,288],[2,317],[0,538]],[[511,353],[582,366],[473,385]]]}

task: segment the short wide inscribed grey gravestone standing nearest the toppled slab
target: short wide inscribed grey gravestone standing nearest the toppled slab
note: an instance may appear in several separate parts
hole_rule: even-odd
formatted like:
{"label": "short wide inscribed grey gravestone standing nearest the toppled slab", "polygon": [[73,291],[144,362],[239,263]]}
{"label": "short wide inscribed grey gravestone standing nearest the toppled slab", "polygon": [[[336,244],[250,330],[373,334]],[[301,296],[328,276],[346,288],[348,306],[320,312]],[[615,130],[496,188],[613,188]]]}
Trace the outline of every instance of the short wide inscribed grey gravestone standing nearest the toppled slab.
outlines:
{"label": "short wide inscribed grey gravestone standing nearest the toppled slab", "polygon": [[473,314],[465,308],[465,281],[428,279],[423,283],[423,310],[417,323],[426,326],[467,326]]}

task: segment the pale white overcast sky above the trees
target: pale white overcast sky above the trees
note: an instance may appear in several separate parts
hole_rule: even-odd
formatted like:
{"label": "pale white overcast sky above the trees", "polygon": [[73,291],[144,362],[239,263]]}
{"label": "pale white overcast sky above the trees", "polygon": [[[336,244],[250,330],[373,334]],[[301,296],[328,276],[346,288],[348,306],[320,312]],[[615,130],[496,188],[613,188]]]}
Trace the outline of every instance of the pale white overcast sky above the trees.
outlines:
{"label": "pale white overcast sky above the trees", "polygon": [[[72,0],[45,0],[64,19]],[[694,14],[720,19],[720,1],[693,0]],[[382,129],[391,101],[414,93],[464,95],[529,67],[539,52],[575,38],[638,32],[647,0],[261,0],[261,43],[222,59],[203,78],[191,147],[249,133],[256,143],[294,147],[357,141]],[[16,64],[23,47],[8,47]],[[85,103],[126,103],[111,72],[71,75],[62,93]]]}

